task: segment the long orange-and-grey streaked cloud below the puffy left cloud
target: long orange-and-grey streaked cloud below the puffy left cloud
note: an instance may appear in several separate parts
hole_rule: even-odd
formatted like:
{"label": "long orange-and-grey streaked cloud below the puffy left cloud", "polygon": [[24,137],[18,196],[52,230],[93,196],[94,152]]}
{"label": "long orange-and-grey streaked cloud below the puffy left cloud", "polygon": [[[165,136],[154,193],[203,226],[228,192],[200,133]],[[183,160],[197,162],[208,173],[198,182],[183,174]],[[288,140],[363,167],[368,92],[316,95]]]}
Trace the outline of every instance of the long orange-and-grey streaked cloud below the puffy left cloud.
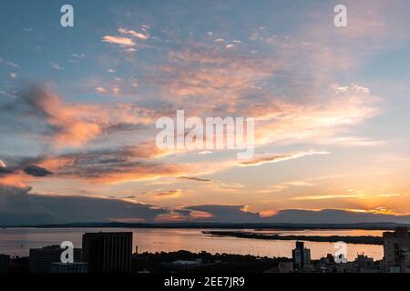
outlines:
{"label": "long orange-and-grey streaked cloud below the puffy left cloud", "polygon": [[166,155],[153,143],[125,146],[86,153],[45,156],[37,164],[53,171],[56,177],[81,179],[93,183],[118,184],[158,178],[159,176],[185,175],[186,165],[156,162]]}

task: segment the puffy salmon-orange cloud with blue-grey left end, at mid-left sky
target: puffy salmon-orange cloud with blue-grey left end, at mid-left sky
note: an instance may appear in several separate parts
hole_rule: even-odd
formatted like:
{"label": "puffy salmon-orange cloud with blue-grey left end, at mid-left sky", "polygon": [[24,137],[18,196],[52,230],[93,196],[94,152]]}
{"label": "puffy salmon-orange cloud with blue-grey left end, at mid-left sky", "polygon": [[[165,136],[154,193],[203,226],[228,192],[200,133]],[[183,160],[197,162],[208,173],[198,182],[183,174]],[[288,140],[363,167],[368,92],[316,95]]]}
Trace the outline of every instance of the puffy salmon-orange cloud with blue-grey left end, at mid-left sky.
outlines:
{"label": "puffy salmon-orange cloud with blue-grey left end, at mid-left sky", "polygon": [[[38,136],[47,146],[82,146],[100,135],[109,135],[122,126],[152,125],[160,113],[136,104],[66,103],[47,87],[30,87],[10,102],[10,122],[25,121],[36,126],[30,135]],[[10,110],[6,112],[10,113]],[[33,123],[36,118],[36,124]],[[42,130],[46,124],[46,130]]]}

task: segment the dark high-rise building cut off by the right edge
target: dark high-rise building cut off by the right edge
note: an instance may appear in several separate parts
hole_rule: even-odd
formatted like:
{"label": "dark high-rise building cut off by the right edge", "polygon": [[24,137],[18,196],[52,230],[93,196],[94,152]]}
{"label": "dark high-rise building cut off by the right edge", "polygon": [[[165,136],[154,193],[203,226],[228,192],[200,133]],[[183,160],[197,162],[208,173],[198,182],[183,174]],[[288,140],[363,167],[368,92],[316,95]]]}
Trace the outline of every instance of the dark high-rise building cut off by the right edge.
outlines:
{"label": "dark high-rise building cut off by the right edge", "polygon": [[410,270],[410,234],[407,227],[384,232],[384,267],[387,272],[407,273]]}

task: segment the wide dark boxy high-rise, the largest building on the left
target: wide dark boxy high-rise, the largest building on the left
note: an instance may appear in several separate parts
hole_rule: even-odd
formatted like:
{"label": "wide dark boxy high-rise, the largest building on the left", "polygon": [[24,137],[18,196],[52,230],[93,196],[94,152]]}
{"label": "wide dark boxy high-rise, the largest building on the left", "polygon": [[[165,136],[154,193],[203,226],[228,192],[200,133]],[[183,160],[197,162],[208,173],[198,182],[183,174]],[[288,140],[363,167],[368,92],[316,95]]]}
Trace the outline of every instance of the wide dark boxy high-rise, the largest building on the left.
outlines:
{"label": "wide dark boxy high-rise, the largest building on the left", "polygon": [[130,272],[132,233],[87,233],[83,236],[83,261],[90,273]]}

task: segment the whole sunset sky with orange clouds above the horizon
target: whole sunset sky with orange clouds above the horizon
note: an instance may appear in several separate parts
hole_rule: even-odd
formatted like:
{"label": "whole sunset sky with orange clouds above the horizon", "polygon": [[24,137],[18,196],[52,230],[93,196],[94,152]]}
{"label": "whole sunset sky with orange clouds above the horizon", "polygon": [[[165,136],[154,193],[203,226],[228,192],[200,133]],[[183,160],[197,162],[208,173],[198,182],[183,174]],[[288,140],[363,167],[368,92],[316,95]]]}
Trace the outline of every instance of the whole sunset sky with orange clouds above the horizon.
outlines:
{"label": "whole sunset sky with orange clouds above the horizon", "polygon": [[[1,1],[0,223],[410,214],[409,15],[407,0]],[[255,117],[255,156],[159,150],[155,123],[179,109]]]}

